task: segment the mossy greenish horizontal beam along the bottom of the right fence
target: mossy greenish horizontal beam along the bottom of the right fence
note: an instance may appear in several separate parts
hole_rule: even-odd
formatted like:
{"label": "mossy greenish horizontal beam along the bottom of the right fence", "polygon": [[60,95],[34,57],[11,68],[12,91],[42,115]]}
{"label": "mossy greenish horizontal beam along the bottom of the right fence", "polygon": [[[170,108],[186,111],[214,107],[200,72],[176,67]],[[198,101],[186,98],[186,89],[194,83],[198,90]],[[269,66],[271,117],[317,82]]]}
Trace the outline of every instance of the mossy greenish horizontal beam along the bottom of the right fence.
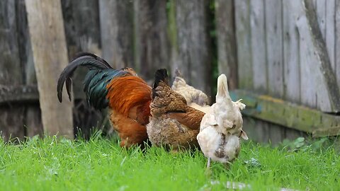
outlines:
{"label": "mossy greenish horizontal beam along the bottom of the right fence", "polygon": [[246,109],[242,110],[243,115],[303,132],[312,133],[317,129],[337,127],[340,122],[338,115],[330,115],[285,100],[256,95],[249,91],[231,91],[230,95],[233,100],[243,99],[242,102],[246,104]]}

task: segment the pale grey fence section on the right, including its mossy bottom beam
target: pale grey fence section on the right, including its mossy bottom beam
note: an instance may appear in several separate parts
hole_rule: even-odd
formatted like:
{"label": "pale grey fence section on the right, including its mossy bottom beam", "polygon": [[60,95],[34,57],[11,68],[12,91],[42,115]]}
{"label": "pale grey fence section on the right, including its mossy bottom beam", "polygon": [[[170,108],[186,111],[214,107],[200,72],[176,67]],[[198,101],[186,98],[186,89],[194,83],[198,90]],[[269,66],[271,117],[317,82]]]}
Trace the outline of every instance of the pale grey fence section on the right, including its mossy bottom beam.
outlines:
{"label": "pale grey fence section on the right, including its mossy bottom beam", "polygon": [[[239,88],[247,90],[237,97],[254,98],[257,104],[245,114],[314,136],[338,134],[340,1],[234,2]],[[263,121],[251,124],[246,126],[259,139],[275,142],[296,135]]]}

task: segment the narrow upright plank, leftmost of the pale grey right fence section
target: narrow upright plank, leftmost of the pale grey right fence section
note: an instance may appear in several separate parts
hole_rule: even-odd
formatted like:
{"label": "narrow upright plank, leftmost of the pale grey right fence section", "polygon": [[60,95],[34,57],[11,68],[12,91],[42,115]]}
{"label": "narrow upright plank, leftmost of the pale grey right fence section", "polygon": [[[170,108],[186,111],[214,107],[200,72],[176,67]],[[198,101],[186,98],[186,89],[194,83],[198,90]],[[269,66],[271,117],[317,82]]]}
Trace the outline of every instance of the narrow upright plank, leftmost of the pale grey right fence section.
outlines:
{"label": "narrow upright plank, leftmost of the pale grey right fence section", "polygon": [[234,1],[239,88],[253,88],[249,0]]}

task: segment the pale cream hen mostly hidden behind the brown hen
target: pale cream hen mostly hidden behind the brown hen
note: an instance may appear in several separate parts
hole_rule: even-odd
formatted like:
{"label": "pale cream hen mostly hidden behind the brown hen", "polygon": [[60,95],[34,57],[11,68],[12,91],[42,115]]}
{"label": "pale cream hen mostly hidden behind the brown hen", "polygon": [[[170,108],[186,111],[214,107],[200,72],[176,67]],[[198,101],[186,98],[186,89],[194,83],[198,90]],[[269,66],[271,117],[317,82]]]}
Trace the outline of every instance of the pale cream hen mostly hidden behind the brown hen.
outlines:
{"label": "pale cream hen mostly hidden behind the brown hen", "polygon": [[203,106],[209,104],[208,96],[193,86],[189,86],[186,81],[181,77],[181,71],[176,69],[174,82],[171,89],[181,94],[186,99],[189,106],[195,108],[197,105]]}

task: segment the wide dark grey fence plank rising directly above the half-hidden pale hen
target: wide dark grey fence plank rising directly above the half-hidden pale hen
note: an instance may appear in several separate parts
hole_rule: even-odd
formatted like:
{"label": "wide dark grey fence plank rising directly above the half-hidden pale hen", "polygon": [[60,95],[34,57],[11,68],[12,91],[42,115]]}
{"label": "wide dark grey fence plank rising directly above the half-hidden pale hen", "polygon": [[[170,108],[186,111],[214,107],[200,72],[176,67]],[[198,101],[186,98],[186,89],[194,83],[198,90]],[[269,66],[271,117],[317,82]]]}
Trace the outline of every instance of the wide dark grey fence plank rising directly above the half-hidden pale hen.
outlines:
{"label": "wide dark grey fence plank rising directly above the half-hidden pale hen", "polygon": [[[176,56],[171,63],[178,67],[192,86],[211,93],[210,40],[207,28],[207,0],[176,1],[176,42],[171,42]],[[172,73],[173,73],[172,72]],[[174,73],[173,73],[174,74]]]}

